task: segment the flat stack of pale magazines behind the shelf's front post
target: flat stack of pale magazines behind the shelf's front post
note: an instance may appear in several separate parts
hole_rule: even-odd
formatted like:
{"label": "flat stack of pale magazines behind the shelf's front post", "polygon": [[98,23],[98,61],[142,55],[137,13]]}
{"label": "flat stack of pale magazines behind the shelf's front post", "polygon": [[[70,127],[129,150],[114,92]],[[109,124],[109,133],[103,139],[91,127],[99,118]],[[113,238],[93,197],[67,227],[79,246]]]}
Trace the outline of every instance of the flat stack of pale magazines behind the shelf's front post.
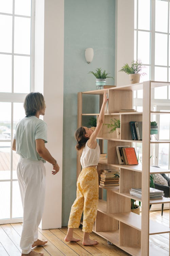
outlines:
{"label": "flat stack of pale magazines behind the shelf's front post", "polygon": [[[130,194],[136,197],[142,197],[142,189],[141,188],[131,188]],[[164,196],[164,191],[156,188],[150,187],[150,199],[162,199]]]}

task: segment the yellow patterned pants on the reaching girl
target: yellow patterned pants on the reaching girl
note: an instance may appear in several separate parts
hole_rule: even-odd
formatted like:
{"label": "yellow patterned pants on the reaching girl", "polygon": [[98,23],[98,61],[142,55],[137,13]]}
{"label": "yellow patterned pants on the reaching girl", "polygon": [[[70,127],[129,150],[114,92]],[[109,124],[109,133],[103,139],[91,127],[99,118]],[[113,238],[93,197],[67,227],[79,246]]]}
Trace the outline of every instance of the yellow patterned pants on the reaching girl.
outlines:
{"label": "yellow patterned pants on the reaching girl", "polygon": [[83,232],[92,232],[99,201],[99,181],[96,168],[82,169],[77,180],[77,197],[71,207],[68,228],[78,228],[83,212]]}

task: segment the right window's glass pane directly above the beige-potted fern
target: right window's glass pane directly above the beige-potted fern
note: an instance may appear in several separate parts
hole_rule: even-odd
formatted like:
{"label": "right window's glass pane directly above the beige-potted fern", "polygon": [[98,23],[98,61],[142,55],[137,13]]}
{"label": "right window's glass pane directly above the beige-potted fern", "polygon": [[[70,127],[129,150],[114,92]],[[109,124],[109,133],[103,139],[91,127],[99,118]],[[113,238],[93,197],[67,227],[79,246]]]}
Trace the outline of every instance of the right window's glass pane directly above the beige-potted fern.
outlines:
{"label": "right window's glass pane directly above the beige-potted fern", "polygon": [[138,31],[138,59],[150,64],[150,32]]}

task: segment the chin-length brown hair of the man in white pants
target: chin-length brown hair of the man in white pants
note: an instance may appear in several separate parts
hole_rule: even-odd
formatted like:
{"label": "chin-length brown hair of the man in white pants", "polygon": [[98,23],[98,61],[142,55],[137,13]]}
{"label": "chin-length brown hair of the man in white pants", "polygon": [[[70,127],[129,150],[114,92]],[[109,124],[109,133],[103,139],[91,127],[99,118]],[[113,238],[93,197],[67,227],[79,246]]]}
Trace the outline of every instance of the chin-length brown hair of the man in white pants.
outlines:
{"label": "chin-length brown hair of the man in white pants", "polygon": [[29,93],[27,94],[23,107],[26,113],[26,117],[35,116],[37,111],[44,109],[45,100],[41,93]]}

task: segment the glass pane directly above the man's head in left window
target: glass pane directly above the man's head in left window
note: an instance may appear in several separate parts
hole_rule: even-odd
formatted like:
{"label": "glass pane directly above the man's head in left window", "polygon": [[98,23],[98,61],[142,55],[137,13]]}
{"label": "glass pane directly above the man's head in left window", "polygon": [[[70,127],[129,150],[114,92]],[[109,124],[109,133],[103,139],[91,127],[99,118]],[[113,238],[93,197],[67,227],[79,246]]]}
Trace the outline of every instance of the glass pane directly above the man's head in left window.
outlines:
{"label": "glass pane directly above the man's head in left window", "polygon": [[14,93],[30,92],[30,57],[14,56]]}

